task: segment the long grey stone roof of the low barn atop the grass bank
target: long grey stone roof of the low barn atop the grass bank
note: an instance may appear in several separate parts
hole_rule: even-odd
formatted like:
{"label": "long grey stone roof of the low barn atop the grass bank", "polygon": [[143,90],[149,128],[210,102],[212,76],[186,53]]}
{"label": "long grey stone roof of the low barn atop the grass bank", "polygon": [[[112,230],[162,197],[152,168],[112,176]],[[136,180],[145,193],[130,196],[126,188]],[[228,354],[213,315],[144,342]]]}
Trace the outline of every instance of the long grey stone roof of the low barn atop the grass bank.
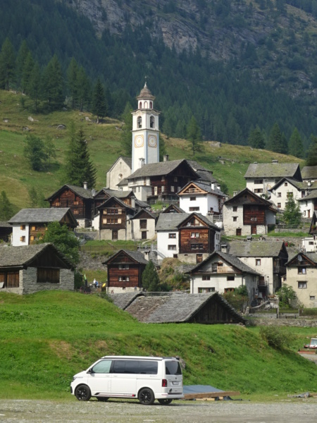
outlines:
{"label": "long grey stone roof of the low barn atop the grass bank", "polygon": [[237,321],[244,321],[218,293],[139,295],[125,310],[144,323],[181,323],[190,321],[213,297],[227,308]]}

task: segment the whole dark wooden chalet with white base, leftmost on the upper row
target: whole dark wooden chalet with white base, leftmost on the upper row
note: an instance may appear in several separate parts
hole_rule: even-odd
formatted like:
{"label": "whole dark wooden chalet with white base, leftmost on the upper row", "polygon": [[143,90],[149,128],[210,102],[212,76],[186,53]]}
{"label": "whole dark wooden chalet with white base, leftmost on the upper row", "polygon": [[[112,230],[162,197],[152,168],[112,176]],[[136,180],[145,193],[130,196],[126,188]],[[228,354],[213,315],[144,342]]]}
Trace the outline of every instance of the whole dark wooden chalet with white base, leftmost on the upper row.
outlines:
{"label": "whole dark wooden chalet with white base, leftmost on the upper row", "polygon": [[75,185],[63,185],[46,198],[49,207],[70,207],[80,226],[89,226],[94,212],[94,192]]}

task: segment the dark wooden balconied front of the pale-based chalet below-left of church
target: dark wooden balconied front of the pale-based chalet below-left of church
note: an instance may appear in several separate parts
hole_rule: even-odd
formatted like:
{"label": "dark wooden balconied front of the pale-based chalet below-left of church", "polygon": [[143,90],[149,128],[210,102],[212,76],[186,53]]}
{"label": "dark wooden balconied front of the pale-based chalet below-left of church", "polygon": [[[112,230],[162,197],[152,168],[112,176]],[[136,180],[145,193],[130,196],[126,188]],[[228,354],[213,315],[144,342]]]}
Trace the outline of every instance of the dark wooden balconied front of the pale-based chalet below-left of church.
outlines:
{"label": "dark wooden balconied front of the pale-based chalet below-left of church", "polygon": [[118,200],[116,197],[111,197],[98,207],[99,214],[99,228],[110,229],[117,231],[125,229],[127,225],[127,214],[133,214],[133,209],[127,207],[124,202]]}

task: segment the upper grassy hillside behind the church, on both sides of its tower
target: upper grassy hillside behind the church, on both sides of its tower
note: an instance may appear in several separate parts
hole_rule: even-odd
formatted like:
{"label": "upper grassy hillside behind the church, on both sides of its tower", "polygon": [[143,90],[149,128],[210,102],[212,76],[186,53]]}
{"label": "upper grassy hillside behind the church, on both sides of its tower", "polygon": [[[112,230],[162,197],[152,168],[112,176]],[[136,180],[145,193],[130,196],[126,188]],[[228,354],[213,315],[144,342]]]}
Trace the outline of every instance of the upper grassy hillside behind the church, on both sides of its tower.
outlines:
{"label": "upper grassy hillside behind the church, on both sides of its tower", "polygon": [[[70,121],[82,125],[85,130],[89,152],[97,167],[97,188],[106,185],[106,172],[113,162],[123,154],[120,145],[120,125],[118,121],[106,118],[104,123],[97,125],[94,117],[80,111],[56,111],[52,114],[33,114],[30,100],[25,99],[25,107],[21,106],[21,94],[0,91],[0,185],[6,190],[9,200],[16,207],[30,207],[28,190],[35,187],[38,192],[47,197],[59,188],[63,178],[63,162],[68,145],[68,131]],[[29,120],[29,117],[33,121]],[[86,120],[86,117],[89,120]],[[66,125],[66,130],[58,130],[58,125]],[[24,139],[29,128],[30,133],[39,137],[51,136],[54,139],[57,157],[46,172],[35,172],[23,157]],[[212,142],[205,142],[204,152],[192,156],[192,151],[185,140],[176,138],[166,139],[166,149],[170,159],[195,159],[213,171],[220,183],[228,185],[230,194],[234,190],[244,188],[244,173],[249,163],[254,161],[270,162],[278,159],[281,162],[304,162],[295,157],[268,152],[266,150],[251,149],[238,145],[216,147]],[[220,159],[221,157],[222,159]]]}

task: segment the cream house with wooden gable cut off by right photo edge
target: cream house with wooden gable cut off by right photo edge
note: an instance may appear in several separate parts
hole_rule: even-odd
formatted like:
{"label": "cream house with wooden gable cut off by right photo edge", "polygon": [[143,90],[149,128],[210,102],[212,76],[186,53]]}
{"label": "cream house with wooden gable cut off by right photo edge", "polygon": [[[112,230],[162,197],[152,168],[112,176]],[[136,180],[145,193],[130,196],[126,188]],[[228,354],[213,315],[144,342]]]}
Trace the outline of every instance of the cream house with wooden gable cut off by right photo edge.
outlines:
{"label": "cream house with wooden gable cut off by right photo edge", "polygon": [[297,253],[286,263],[286,281],[304,307],[317,307],[317,253]]}

